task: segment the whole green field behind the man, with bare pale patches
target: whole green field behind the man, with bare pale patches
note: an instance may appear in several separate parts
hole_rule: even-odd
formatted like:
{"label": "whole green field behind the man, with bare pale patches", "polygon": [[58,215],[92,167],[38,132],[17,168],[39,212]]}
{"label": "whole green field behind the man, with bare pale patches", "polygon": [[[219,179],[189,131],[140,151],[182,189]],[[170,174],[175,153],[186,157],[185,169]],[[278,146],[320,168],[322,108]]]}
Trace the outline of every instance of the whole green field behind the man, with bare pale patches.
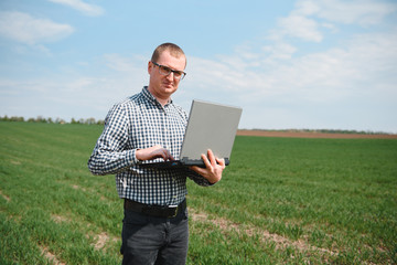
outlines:
{"label": "whole green field behind the man, with bare pale patches", "polygon": [[[101,129],[0,123],[0,264],[120,264]],[[219,183],[187,186],[187,264],[397,263],[396,139],[238,136]]]}

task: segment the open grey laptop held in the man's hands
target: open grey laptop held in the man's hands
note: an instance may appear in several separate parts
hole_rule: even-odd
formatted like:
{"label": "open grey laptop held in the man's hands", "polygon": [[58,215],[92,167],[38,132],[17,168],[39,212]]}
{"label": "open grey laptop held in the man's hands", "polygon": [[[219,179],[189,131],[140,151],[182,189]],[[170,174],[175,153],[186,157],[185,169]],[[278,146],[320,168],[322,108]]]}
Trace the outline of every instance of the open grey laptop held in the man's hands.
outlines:
{"label": "open grey laptop held in the man's hands", "polygon": [[205,167],[202,153],[211,149],[215,157],[230,161],[233,144],[243,109],[194,99],[180,151],[180,160],[146,162],[142,167]]}

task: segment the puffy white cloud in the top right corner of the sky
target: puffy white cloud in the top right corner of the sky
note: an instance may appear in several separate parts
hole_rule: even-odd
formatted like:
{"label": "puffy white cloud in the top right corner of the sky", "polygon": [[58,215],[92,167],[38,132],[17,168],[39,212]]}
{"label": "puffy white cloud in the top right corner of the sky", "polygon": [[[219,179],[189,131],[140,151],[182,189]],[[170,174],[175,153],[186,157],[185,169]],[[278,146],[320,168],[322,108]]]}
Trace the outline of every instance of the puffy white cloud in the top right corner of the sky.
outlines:
{"label": "puffy white cloud in the top right corner of the sky", "polygon": [[[308,42],[322,42],[322,29],[335,33],[337,23],[368,26],[377,24],[388,14],[397,11],[397,4],[369,0],[301,0],[286,18],[278,20],[278,28],[269,39],[280,41],[286,36]],[[335,24],[336,23],[336,24]]]}

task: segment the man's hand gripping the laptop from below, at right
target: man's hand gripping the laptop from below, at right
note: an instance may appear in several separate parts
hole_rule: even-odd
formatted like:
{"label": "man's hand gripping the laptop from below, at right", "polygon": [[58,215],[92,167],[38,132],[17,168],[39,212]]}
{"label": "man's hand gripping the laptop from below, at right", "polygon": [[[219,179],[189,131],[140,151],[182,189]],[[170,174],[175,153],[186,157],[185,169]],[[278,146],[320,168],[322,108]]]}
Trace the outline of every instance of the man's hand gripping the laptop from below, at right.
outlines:
{"label": "man's hand gripping the laptop from below, at right", "polygon": [[191,169],[207,179],[210,183],[215,184],[222,179],[222,172],[226,167],[225,159],[215,158],[211,149],[208,149],[207,152],[208,157],[204,153],[201,156],[205,163],[205,168],[193,166]]}

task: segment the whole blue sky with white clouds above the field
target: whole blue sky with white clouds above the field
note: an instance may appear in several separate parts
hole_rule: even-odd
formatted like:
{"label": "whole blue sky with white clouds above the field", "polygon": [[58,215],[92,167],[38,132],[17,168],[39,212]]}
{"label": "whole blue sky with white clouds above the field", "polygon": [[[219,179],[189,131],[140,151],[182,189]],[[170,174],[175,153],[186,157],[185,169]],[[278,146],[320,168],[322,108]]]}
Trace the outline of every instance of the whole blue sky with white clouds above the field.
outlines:
{"label": "whole blue sky with white clouds above the field", "polygon": [[180,45],[173,102],[239,106],[242,129],[397,134],[397,1],[0,1],[0,116],[105,119]]}

